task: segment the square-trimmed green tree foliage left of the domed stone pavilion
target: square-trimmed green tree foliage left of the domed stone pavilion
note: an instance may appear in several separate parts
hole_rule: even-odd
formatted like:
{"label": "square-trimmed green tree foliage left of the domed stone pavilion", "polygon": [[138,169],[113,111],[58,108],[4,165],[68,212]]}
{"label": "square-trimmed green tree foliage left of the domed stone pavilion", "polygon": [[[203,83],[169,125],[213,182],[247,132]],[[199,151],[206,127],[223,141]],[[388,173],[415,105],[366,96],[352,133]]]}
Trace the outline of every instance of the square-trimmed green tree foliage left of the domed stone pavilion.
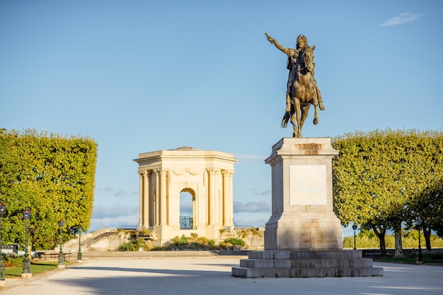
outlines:
{"label": "square-trimmed green tree foliage left of the domed stone pavilion", "polygon": [[6,210],[2,243],[25,240],[23,210],[30,207],[28,236],[34,248],[53,248],[57,222],[87,230],[93,210],[97,144],[91,138],[62,137],[34,130],[0,131],[0,199]]}

